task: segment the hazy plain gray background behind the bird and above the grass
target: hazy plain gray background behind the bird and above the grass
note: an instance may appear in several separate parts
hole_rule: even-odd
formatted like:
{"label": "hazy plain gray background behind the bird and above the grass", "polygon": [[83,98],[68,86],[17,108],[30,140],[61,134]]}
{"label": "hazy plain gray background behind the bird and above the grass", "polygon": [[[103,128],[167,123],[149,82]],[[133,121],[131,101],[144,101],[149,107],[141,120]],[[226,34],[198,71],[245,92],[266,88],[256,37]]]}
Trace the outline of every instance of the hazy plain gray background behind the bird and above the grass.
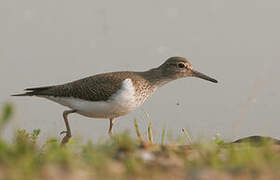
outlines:
{"label": "hazy plain gray background behind the bird and above the grass", "polygon": [[[172,82],[119,118],[115,131],[132,130],[134,117],[144,131],[148,112],[156,136],[166,125],[175,137],[182,127],[194,138],[280,137],[279,19],[277,0],[0,0],[0,103],[16,107],[6,136],[40,128],[44,139],[65,129],[65,107],[12,93],[185,56],[220,83]],[[107,133],[106,120],[70,119],[76,137]]]}

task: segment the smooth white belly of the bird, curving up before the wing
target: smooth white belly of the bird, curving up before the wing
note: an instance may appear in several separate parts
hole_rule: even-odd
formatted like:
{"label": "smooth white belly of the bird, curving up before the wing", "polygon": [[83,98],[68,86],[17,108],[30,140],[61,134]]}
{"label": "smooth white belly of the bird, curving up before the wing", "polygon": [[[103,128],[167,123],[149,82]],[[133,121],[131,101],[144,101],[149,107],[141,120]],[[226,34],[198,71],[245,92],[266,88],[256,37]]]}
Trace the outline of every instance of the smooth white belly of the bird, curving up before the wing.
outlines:
{"label": "smooth white belly of the bird, curving up before the wing", "polygon": [[115,118],[135,110],[142,104],[135,101],[135,90],[131,79],[122,82],[121,89],[113,94],[107,101],[87,101],[73,97],[45,98],[61,105],[77,110],[77,113],[94,118]]}

